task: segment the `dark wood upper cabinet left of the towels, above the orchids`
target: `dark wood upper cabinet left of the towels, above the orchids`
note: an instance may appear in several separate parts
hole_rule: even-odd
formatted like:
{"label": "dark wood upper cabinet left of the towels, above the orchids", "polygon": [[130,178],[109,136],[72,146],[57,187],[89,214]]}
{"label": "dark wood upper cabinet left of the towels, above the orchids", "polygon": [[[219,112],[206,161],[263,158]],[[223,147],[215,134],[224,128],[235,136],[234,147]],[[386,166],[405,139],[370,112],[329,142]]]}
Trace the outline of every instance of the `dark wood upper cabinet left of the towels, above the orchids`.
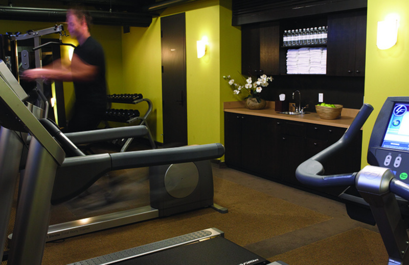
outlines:
{"label": "dark wood upper cabinet left of the towels, above the orchids", "polygon": [[259,76],[279,73],[279,22],[243,25],[241,28],[241,72]]}

